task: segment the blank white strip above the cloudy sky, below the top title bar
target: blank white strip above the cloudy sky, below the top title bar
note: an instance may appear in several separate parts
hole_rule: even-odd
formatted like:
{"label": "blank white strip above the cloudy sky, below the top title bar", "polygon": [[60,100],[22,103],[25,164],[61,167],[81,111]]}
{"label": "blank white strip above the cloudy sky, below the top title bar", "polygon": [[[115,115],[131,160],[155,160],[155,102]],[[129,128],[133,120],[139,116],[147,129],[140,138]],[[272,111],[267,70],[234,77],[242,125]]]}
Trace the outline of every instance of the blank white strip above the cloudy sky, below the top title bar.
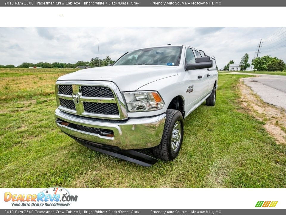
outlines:
{"label": "blank white strip above the cloudy sky, below the top title bar", "polygon": [[2,7],[0,13],[0,27],[210,26],[282,27],[285,7]]}

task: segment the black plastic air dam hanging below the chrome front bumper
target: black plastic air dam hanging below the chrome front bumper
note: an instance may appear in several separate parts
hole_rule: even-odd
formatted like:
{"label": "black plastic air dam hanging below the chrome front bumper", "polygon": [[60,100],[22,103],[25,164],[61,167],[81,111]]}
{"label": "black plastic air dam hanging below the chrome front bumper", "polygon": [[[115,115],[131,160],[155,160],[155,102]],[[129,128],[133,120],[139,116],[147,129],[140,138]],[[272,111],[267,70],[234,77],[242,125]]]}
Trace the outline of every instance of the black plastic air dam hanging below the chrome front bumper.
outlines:
{"label": "black plastic air dam hanging below the chrome front bumper", "polygon": [[108,147],[108,146],[104,146],[101,144],[97,145],[96,143],[93,144],[85,140],[77,139],[76,137],[71,136],[69,134],[67,135],[75,139],[77,142],[84,145],[85,147],[90,148],[94,151],[98,151],[98,152],[108,154],[108,155],[111,155],[111,156],[114,156],[114,157],[117,157],[117,158],[120,158],[126,161],[130,161],[132,163],[136,163],[144,167],[150,167],[158,161],[156,158],[153,158],[149,155],[140,153],[135,150],[121,150],[119,148],[112,147],[112,146]]}

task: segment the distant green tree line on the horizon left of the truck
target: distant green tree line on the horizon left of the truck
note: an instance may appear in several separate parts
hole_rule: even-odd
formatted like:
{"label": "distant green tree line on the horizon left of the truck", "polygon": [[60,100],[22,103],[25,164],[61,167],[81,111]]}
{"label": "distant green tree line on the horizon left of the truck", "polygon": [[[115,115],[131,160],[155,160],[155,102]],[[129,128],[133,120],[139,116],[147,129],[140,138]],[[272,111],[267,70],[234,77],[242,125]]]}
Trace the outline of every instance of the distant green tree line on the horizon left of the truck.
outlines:
{"label": "distant green tree line on the horizon left of the truck", "polygon": [[[90,61],[78,61],[74,64],[71,63],[59,63],[59,62],[54,62],[54,63],[48,63],[48,62],[39,62],[39,63],[22,63],[21,65],[18,65],[17,68],[29,68],[29,67],[42,67],[42,68],[75,68],[77,66],[90,66],[90,67],[99,67],[100,66],[107,66],[108,64],[113,64],[114,61],[111,60],[109,56],[106,56],[105,59],[99,59],[98,57],[96,58],[91,58]],[[0,68],[15,68],[16,66],[13,64],[10,65],[0,65]]]}

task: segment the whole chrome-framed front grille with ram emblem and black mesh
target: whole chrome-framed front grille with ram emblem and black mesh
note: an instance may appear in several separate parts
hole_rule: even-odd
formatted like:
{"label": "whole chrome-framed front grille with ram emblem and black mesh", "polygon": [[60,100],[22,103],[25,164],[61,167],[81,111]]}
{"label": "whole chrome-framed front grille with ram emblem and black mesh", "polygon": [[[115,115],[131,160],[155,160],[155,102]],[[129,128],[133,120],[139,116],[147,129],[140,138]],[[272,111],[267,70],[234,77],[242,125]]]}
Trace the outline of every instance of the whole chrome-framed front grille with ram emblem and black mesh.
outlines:
{"label": "whole chrome-framed front grille with ram emblem and black mesh", "polygon": [[57,81],[58,109],[97,119],[127,119],[125,101],[116,84],[107,81]]}

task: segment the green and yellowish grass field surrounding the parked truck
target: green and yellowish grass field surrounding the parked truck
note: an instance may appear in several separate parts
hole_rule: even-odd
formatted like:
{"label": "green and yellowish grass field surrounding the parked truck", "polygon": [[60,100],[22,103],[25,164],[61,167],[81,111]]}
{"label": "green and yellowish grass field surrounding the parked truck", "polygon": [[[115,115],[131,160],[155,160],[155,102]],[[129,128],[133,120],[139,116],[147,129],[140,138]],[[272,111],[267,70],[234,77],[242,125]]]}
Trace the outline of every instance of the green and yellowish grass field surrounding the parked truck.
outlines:
{"label": "green and yellowish grass field surrounding the parked truck", "polygon": [[[1,188],[285,188],[286,146],[241,108],[219,75],[215,107],[185,119],[178,158],[142,167],[78,144],[56,128],[54,84],[66,70],[0,69]],[[148,150],[146,150],[148,152]]]}

